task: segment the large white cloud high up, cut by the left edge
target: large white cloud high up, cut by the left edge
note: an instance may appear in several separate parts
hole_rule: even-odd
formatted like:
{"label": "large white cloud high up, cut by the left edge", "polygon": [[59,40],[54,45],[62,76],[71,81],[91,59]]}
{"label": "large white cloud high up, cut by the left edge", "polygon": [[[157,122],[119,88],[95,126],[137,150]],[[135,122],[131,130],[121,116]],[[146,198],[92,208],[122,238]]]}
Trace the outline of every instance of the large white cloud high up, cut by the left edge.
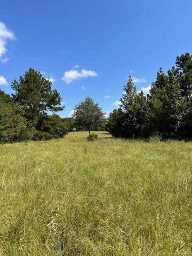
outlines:
{"label": "large white cloud high up, cut by the left edge", "polygon": [[7,49],[6,44],[7,40],[15,40],[16,36],[14,33],[9,30],[6,25],[0,21],[0,61],[6,62],[8,61],[8,57],[5,56]]}

